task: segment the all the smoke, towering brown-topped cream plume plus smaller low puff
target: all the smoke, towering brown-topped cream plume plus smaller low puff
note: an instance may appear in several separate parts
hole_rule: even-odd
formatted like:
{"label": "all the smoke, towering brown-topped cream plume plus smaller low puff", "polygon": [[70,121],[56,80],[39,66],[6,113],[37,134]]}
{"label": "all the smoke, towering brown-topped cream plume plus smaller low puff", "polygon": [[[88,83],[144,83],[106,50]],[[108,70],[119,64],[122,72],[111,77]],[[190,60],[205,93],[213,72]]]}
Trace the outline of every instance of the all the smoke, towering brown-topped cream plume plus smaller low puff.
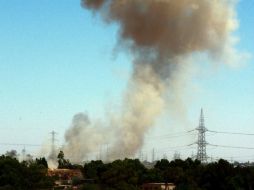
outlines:
{"label": "all the smoke, towering brown-topped cream plume plus smaller low puff", "polygon": [[[193,53],[220,59],[233,49],[237,27],[232,0],[83,0],[82,6],[98,12],[107,23],[119,25],[124,48],[133,54],[133,74],[123,98],[123,109],[109,121],[115,135],[111,159],[135,155],[144,135],[165,108],[165,91],[178,83],[172,76]],[[174,87],[176,88],[176,87]],[[181,88],[181,87],[177,87]],[[171,92],[174,93],[174,92]],[[177,108],[175,108],[177,109]],[[80,118],[81,117],[81,118]],[[82,160],[99,146],[107,130],[77,115],[66,132],[70,158]],[[112,135],[112,133],[110,135]]]}

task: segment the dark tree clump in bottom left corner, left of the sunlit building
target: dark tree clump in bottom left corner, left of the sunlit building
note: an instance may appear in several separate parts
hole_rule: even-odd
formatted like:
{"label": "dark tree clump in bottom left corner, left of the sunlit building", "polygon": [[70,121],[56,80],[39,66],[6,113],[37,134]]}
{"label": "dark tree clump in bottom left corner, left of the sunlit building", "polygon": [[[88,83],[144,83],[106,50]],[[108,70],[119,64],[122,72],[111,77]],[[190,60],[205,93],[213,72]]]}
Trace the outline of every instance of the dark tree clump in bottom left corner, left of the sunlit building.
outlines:
{"label": "dark tree clump in bottom left corner, left of the sunlit building", "polygon": [[45,189],[53,186],[47,175],[45,158],[19,162],[12,156],[0,156],[0,189]]}

